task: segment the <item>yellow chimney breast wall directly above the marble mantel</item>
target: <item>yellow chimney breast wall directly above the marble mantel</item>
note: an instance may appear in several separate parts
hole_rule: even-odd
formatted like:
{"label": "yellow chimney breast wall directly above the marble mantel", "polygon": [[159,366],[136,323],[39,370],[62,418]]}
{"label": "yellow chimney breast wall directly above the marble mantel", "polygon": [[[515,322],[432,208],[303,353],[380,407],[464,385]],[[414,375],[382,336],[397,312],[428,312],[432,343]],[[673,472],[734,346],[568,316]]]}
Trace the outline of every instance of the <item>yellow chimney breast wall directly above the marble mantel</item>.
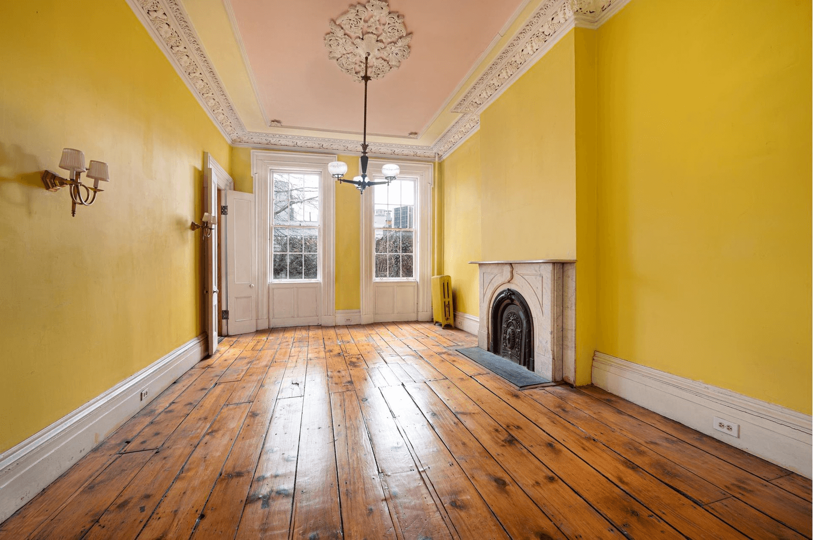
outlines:
{"label": "yellow chimney breast wall directly above the marble mantel", "polygon": [[480,114],[482,257],[576,258],[576,145],[569,32]]}

